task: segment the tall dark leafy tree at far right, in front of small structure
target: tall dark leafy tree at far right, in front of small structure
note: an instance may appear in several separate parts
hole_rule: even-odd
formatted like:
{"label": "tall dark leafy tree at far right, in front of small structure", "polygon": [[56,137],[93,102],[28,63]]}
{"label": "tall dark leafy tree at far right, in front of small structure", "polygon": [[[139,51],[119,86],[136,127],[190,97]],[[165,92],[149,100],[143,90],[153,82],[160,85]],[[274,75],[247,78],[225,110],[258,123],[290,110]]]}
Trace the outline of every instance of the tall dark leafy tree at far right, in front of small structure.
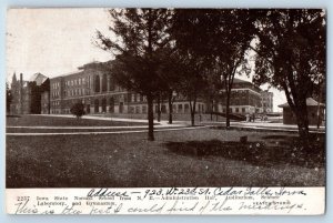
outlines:
{"label": "tall dark leafy tree at far right, in front of small structure", "polygon": [[283,90],[309,145],[306,98],[325,80],[325,12],[320,9],[262,10],[255,22],[255,81]]}

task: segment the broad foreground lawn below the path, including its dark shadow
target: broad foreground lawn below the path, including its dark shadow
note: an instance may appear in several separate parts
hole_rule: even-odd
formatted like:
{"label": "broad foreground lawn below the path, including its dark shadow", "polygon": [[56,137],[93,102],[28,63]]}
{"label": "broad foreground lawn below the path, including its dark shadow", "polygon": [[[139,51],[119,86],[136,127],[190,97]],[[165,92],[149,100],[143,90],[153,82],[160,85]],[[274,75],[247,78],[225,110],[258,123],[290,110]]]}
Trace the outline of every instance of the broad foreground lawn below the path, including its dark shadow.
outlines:
{"label": "broad foreground lawn below the path, including its dark shadow", "polygon": [[[249,142],[240,144],[239,138]],[[7,187],[320,186],[324,138],[198,129],[105,135],[7,136]]]}

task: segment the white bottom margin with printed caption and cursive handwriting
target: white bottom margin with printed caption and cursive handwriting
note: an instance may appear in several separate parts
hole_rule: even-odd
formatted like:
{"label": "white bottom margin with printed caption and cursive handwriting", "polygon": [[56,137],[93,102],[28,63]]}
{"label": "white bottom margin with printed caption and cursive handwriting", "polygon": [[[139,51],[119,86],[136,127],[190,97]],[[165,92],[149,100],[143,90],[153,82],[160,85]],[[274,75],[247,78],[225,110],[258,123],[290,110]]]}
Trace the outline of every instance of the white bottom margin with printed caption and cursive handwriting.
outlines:
{"label": "white bottom margin with printed caption and cursive handwriting", "polygon": [[8,214],[321,215],[325,187],[7,189]]}

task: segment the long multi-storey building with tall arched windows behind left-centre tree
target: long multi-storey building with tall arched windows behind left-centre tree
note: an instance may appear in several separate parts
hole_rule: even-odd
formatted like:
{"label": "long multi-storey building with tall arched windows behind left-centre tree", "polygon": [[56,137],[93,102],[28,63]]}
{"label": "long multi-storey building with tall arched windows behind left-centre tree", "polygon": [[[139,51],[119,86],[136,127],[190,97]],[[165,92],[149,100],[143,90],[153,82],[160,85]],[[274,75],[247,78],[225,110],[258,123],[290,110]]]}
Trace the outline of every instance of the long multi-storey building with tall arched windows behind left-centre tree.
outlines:
{"label": "long multi-storey building with tall arched windows behind left-centre tree", "polygon": [[[101,68],[100,62],[88,63],[78,71],[63,74],[50,80],[50,107],[51,114],[70,113],[71,107],[82,102],[87,113],[129,113],[145,114],[147,100],[135,92],[129,92],[120,88]],[[161,112],[167,113],[167,101],[161,103]],[[205,103],[198,100],[196,111],[205,112]],[[158,105],[154,104],[154,112]],[[173,103],[174,113],[189,113],[190,104],[182,98]]]}

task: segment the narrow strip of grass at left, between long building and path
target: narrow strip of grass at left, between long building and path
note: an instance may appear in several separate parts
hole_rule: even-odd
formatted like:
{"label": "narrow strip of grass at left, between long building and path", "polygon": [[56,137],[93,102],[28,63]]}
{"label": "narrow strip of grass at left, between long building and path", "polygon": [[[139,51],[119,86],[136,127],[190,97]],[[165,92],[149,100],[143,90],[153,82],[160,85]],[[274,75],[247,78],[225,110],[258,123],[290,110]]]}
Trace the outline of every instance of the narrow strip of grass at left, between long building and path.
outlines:
{"label": "narrow strip of grass at left, between long building and path", "polygon": [[131,125],[147,125],[145,122],[119,122],[107,120],[89,120],[62,116],[43,116],[43,115],[22,115],[8,116],[6,119],[7,126],[131,126]]}

